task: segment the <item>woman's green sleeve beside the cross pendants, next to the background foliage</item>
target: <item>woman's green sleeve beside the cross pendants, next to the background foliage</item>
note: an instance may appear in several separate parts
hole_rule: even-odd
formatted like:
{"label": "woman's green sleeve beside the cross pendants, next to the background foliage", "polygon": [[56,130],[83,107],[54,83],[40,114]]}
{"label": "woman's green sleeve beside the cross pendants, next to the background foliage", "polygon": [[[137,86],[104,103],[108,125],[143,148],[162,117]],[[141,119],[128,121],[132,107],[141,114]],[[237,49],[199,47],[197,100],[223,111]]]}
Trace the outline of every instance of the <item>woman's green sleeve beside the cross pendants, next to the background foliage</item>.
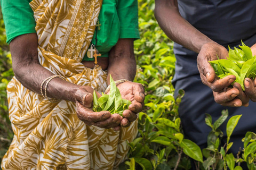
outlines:
{"label": "woman's green sleeve beside the cross pendants, next to the background foliage", "polygon": [[139,39],[138,0],[119,0],[117,14],[121,26],[119,38]]}

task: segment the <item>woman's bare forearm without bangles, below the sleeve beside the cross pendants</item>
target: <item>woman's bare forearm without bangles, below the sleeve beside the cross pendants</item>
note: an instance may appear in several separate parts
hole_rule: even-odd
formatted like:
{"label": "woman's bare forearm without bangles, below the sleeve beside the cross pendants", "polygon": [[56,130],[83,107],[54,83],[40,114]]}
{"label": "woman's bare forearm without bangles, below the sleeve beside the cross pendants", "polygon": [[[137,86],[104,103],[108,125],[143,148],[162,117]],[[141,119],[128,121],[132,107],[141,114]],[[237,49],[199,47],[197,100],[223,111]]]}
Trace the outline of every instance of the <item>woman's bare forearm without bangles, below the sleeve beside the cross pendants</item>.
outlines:
{"label": "woman's bare forearm without bangles, below the sleeve beside the cross pendants", "polygon": [[127,79],[133,81],[136,75],[136,61],[133,53],[133,39],[119,39],[109,53],[109,74],[114,81]]}

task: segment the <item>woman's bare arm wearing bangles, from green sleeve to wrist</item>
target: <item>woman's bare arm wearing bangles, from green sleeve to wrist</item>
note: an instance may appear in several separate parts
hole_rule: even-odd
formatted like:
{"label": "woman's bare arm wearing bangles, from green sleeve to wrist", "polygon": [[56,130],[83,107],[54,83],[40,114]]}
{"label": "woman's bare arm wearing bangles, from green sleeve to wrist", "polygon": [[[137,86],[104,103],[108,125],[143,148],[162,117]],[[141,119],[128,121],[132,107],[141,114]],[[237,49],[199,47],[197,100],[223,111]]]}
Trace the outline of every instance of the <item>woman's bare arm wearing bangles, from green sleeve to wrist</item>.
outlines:
{"label": "woman's bare arm wearing bangles, from green sleeve to wrist", "polygon": [[[38,61],[36,34],[22,35],[10,44],[13,72],[27,89],[41,94],[41,84],[54,75]],[[46,82],[43,86],[43,92]],[[60,78],[54,78],[47,86],[47,97],[75,101],[74,92],[79,86]]]}

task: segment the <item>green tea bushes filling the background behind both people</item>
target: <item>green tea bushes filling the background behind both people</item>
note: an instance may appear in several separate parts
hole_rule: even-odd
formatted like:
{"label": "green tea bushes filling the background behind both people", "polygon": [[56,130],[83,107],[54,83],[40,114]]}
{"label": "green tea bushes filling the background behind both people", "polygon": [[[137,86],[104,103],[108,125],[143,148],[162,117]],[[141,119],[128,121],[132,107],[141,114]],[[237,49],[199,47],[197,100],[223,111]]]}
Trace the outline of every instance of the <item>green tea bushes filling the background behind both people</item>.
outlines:
{"label": "green tea bushes filling the background behind both people", "polygon": [[[138,0],[139,30],[141,38],[134,41],[137,59],[136,82],[143,84],[146,90],[145,109],[139,113],[139,133],[128,143],[129,154],[119,169],[190,169],[190,159],[194,159],[197,169],[234,169],[246,162],[249,169],[255,169],[256,134],[247,132],[244,139],[244,154],[234,157],[227,154],[232,142],[220,146],[223,135],[218,127],[226,120],[228,112],[212,122],[206,115],[205,122],[212,128],[208,137],[208,147],[201,150],[194,142],[184,139],[178,107],[184,95],[180,90],[174,99],[172,78],[175,69],[173,43],[159,28],[154,18],[154,0]],[[6,35],[2,13],[0,13],[0,162],[13,138],[8,117],[6,86],[13,77],[11,55],[5,43]],[[227,125],[228,140],[241,115],[230,118]],[[250,143],[250,144],[249,144]],[[205,158],[203,160],[203,157]]]}

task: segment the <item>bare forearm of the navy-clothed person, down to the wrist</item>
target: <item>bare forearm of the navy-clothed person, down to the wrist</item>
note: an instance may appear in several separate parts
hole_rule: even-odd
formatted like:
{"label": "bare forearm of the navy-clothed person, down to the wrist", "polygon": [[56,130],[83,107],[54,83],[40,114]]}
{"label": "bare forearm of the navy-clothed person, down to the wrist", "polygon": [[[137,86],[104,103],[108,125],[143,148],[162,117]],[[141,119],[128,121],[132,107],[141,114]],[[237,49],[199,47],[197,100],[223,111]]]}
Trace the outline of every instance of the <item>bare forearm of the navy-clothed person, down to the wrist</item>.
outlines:
{"label": "bare forearm of the navy-clothed person, down to the wrist", "polygon": [[155,3],[156,20],[166,35],[175,43],[199,53],[205,43],[213,42],[182,18],[177,0],[156,0]]}

